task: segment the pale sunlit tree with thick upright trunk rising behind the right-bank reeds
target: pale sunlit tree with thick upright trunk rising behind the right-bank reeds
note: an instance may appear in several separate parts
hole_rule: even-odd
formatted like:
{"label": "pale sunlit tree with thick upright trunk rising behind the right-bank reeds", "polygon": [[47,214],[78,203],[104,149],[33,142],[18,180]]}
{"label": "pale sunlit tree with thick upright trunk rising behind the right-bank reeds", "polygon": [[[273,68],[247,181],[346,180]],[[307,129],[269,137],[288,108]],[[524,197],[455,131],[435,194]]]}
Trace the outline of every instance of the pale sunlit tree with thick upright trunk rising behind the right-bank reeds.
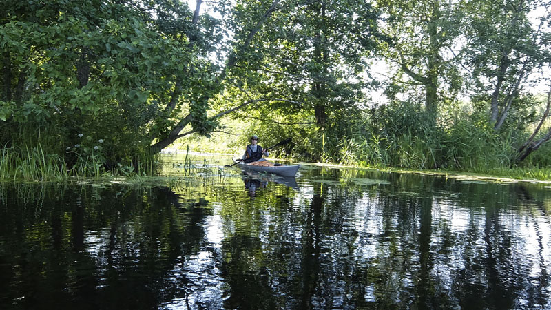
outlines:
{"label": "pale sunlit tree with thick upright trunk rising behind the right-bank reeds", "polygon": [[[457,93],[460,81],[450,53],[460,38],[461,3],[441,0],[377,1],[384,12],[382,56],[397,66],[393,85],[422,85],[425,111],[436,120],[441,95]],[[410,81],[403,79],[406,74]],[[448,90],[444,85],[448,85]]]}

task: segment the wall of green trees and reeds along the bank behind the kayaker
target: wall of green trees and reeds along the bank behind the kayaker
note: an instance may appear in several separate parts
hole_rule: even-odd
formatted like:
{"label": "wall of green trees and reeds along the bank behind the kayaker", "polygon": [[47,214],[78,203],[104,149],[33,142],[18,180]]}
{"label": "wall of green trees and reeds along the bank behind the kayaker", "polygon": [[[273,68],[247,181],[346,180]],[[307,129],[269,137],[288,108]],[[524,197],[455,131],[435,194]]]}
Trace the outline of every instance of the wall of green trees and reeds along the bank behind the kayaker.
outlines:
{"label": "wall of green trees and reeds along the bank behind the kayaker", "polygon": [[551,165],[548,1],[230,2],[4,1],[0,178],[145,171],[213,132],[331,163]]}

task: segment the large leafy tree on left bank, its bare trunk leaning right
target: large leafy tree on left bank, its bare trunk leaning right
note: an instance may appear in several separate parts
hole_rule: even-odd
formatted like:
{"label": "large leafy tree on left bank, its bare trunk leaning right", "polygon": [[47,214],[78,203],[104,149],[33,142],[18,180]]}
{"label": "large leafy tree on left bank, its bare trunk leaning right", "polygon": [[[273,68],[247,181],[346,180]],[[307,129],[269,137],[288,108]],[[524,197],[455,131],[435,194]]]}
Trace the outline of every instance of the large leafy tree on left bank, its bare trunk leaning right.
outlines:
{"label": "large leafy tree on left bank, its bare trunk leaning right", "polygon": [[153,153],[181,136],[208,134],[216,127],[209,100],[278,1],[251,3],[254,18],[245,37],[227,45],[222,68],[209,56],[223,43],[223,25],[200,16],[201,3],[192,12],[169,0],[8,1],[0,28],[0,121],[45,122],[69,141],[99,130]]}

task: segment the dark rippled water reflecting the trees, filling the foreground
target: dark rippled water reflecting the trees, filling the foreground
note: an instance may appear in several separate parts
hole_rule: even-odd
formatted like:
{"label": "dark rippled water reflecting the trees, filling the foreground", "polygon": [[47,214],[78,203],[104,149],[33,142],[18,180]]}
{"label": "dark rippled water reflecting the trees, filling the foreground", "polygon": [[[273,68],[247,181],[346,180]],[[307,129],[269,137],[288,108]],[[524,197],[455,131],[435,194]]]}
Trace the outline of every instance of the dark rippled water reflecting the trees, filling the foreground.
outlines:
{"label": "dark rippled water reflecting the trees, filling the foreground", "polygon": [[551,308],[551,188],[299,173],[0,184],[0,309]]}

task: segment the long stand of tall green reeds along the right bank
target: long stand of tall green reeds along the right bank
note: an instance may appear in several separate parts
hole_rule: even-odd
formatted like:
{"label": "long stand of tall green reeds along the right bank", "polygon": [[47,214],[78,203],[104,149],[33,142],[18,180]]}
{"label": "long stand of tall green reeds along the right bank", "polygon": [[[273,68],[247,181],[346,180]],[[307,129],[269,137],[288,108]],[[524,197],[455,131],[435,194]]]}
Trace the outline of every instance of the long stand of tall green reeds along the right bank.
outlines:
{"label": "long stand of tall green reeds along the right bank", "polygon": [[517,148],[528,133],[514,126],[496,132],[485,117],[464,114],[434,123],[415,105],[380,107],[350,124],[346,135],[328,131],[303,137],[309,146],[301,152],[322,153],[322,161],[341,165],[551,178],[551,144],[516,167]]}

